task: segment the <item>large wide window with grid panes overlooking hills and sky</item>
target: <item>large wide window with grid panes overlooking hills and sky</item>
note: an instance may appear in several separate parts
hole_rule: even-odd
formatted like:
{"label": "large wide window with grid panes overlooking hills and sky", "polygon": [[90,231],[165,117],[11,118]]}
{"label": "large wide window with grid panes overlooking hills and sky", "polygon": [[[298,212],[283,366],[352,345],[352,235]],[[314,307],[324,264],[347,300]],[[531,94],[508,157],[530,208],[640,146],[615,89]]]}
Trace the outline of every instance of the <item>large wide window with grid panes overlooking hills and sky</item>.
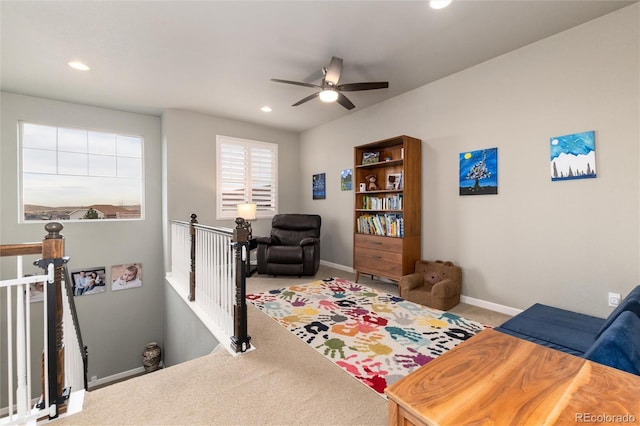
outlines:
{"label": "large wide window with grid panes overlooking hills and sky", "polygon": [[142,137],[19,127],[23,221],[144,217]]}

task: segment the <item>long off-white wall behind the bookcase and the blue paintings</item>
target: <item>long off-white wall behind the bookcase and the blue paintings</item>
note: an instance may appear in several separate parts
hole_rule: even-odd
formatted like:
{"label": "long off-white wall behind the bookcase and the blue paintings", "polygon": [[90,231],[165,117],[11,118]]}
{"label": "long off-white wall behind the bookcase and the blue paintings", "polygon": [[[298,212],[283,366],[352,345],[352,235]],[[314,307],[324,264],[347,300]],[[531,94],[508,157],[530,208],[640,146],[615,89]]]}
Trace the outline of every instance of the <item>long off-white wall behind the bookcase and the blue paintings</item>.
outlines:
{"label": "long off-white wall behind the bookcase and the blue paintings", "polygon": [[[423,141],[423,258],[461,265],[473,298],[607,315],[607,292],[638,284],[638,8],[304,132],[301,210],[323,217],[322,259],[352,266],[353,192],[339,172],[353,146],[407,134]],[[551,182],[549,138],[587,130],[598,177]],[[499,194],[459,196],[458,154],[492,147]],[[327,199],[313,201],[318,172]]]}

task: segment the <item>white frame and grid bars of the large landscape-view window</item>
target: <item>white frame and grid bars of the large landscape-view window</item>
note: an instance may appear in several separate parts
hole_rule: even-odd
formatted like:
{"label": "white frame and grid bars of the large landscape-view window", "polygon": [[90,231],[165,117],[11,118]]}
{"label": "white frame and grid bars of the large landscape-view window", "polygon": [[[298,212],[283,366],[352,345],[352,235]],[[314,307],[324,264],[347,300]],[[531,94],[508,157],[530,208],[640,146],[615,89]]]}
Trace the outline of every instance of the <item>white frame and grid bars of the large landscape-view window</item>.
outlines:
{"label": "white frame and grid bars of the large landscape-view window", "polygon": [[[43,127],[51,127],[55,129],[56,132],[56,147],[55,149],[44,149],[44,148],[34,148],[34,147],[26,147],[25,148],[25,143],[24,143],[24,137],[25,137],[25,130],[24,130],[24,126],[25,125],[32,125],[32,126],[43,126]],[[94,178],[94,179],[101,179],[101,178],[126,178],[126,179],[135,179],[139,181],[139,202],[140,202],[140,215],[139,217],[105,217],[105,218],[100,218],[99,221],[100,222],[104,222],[104,221],[141,221],[141,220],[145,220],[145,138],[143,135],[141,134],[135,134],[135,133],[129,133],[129,132],[120,132],[120,131],[115,131],[115,130],[105,130],[105,129],[96,129],[96,128],[89,128],[89,127],[80,127],[80,126],[67,126],[67,125],[63,125],[63,124],[52,124],[52,123],[44,123],[44,122],[40,122],[40,121],[33,121],[33,120],[18,120],[17,123],[17,127],[18,127],[18,152],[17,152],[17,157],[18,157],[18,173],[17,173],[17,178],[18,178],[18,203],[17,203],[17,208],[18,208],[18,223],[43,223],[43,222],[49,222],[51,220],[59,220],[62,221],[63,223],[67,223],[67,222],[95,222],[95,219],[84,219],[84,218],[51,218],[51,219],[27,219],[25,218],[25,185],[24,185],[24,181],[25,181],[25,173],[29,174],[35,174],[36,172],[32,172],[32,171],[25,171],[25,149],[42,149],[43,151],[50,151],[50,152],[54,152],[56,155],[56,167],[58,167],[58,154],[59,153],[66,153],[65,150],[60,150],[59,149],[59,131],[60,129],[64,129],[64,130],[71,130],[71,131],[81,131],[81,132],[86,132],[87,134],[87,143],[89,143],[89,134],[93,133],[93,134],[106,134],[106,135],[113,135],[116,137],[116,144],[117,144],[117,138],[134,138],[134,139],[139,139],[140,140],[140,176],[139,177],[135,177],[135,176],[128,176],[128,175],[122,175],[122,176],[118,176],[118,172],[117,172],[117,165],[116,165],[116,172],[114,175],[104,175],[104,174],[91,174],[89,172],[89,163],[91,162],[90,158],[99,156],[99,155],[103,155],[105,157],[113,157],[114,161],[117,163],[118,159],[121,160],[127,160],[127,159],[132,159],[132,158],[138,158],[138,157],[133,157],[133,156],[127,156],[127,155],[117,155],[117,151],[115,154],[112,155],[108,155],[108,154],[104,154],[104,153],[92,153],[89,151],[89,148],[87,147],[87,152],[84,153],[80,153],[81,155],[86,155],[86,161],[87,161],[87,173],[86,174],[76,174],[76,173],[59,173],[56,171],[56,173],[42,173],[43,175],[52,175],[52,176],[70,176],[70,177],[85,177],[85,178]],[[117,148],[116,148],[117,150]],[[97,190],[97,185],[96,185],[96,190]],[[64,206],[64,205],[72,205],[73,203],[75,203],[74,201],[65,201],[65,198],[61,198],[60,201],[60,206]],[[82,206],[82,207],[89,207],[92,208],[92,206],[96,206],[96,205],[112,205],[112,206],[117,206],[118,204],[115,204],[113,202],[108,202],[105,201],[104,203],[100,203],[100,202],[96,202],[96,203],[92,203],[88,206]],[[53,206],[51,206],[53,207]],[[72,213],[72,212],[71,212]]]}

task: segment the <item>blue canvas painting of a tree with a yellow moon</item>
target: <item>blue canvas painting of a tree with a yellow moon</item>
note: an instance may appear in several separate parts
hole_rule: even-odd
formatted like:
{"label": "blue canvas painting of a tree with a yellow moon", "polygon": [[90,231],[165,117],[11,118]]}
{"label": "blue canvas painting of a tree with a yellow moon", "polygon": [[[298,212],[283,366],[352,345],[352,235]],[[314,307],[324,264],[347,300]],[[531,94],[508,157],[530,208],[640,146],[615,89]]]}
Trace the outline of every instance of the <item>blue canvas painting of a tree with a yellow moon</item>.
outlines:
{"label": "blue canvas painting of a tree with a yellow moon", "polygon": [[498,148],[460,153],[460,195],[498,193]]}

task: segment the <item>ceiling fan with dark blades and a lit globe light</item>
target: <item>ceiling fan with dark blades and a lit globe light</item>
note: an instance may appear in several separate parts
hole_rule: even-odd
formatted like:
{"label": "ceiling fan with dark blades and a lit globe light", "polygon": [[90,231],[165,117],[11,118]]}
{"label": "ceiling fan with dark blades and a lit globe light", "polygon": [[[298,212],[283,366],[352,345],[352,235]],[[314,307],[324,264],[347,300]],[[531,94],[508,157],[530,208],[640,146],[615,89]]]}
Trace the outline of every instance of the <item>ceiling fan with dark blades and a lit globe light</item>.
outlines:
{"label": "ceiling fan with dark blades and a lit globe light", "polygon": [[368,83],[347,83],[338,84],[340,80],[340,73],[342,72],[342,59],[333,56],[328,67],[322,67],[322,83],[312,84],[304,83],[300,81],[280,80],[278,78],[272,78],[271,81],[277,83],[295,84],[297,86],[315,87],[320,89],[319,92],[309,95],[304,99],[300,99],[298,102],[291,106],[298,106],[311,99],[319,97],[324,102],[338,101],[340,105],[346,109],[353,109],[355,105],[341,92],[355,92],[359,90],[374,90],[374,89],[386,89],[389,87],[388,81],[377,81]]}

